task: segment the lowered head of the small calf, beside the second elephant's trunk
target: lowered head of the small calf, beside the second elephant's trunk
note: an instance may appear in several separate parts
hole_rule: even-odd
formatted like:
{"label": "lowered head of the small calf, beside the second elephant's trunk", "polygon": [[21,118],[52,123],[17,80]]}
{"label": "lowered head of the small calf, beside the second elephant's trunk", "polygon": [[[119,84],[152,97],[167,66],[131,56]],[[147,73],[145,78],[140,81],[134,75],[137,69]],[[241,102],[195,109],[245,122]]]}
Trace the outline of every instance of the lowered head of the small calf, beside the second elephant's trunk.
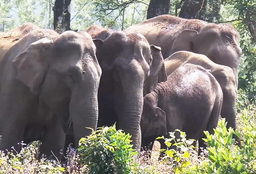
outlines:
{"label": "lowered head of the small calf, beside the second elephant's trunk", "polygon": [[166,114],[157,106],[158,99],[153,93],[144,97],[141,116],[142,137],[167,135]]}

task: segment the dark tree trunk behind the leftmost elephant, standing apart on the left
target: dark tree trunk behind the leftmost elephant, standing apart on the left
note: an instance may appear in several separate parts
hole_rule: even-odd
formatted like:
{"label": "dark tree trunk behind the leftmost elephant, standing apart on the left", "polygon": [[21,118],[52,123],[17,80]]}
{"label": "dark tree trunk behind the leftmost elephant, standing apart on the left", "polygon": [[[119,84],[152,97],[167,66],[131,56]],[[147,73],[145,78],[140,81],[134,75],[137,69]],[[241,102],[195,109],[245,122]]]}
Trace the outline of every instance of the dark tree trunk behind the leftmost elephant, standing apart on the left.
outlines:
{"label": "dark tree trunk behind the leftmost elephant, standing apart on the left", "polygon": [[70,30],[70,3],[71,0],[55,0],[53,12],[54,30],[62,29],[62,31]]}

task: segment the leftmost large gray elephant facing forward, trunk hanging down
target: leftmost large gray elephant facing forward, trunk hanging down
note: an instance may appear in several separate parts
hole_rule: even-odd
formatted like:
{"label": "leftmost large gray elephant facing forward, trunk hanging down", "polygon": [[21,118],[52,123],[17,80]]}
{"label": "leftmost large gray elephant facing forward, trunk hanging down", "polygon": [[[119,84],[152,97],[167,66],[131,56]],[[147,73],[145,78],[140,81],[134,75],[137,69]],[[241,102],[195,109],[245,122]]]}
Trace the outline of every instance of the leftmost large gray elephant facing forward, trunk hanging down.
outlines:
{"label": "leftmost large gray elephant facing forward, trunk hanging down", "polygon": [[59,157],[69,120],[75,147],[96,128],[101,68],[88,33],[36,29],[11,47],[0,64],[1,150],[41,139],[41,153]]}

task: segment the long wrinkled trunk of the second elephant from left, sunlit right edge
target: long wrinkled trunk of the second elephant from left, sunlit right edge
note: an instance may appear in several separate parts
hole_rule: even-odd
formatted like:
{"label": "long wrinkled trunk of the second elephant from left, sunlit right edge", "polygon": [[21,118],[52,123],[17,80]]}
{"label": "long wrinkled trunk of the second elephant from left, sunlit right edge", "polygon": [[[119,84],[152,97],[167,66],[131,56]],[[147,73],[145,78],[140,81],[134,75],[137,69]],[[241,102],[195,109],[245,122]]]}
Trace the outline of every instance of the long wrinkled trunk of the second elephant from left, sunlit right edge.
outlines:
{"label": "long wrinkled trunk of the second elephant from left, sunlit right edge", "polygon": [[143,109],[143,81],[142,76],[124,77],[122,81],[122,101],[120,101],[120,95],[115,95],[119,100],[116,105],[119,126],[126,133],[132,135],[133,148],[137,151],[140,151],[141,148],[140,120]]}

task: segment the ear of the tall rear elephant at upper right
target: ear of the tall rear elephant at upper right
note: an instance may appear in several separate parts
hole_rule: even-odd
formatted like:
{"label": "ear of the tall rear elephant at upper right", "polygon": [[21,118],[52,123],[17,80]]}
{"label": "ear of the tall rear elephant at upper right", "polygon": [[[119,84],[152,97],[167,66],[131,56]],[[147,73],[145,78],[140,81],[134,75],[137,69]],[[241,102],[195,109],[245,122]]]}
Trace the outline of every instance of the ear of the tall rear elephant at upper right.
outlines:
{"label": "ear of the tall rear elephant at upper right", "polygon": [[183,30],[173,42],[171,54],[178,51],[194,52],[194,39],[197,35],[196,30]]}

